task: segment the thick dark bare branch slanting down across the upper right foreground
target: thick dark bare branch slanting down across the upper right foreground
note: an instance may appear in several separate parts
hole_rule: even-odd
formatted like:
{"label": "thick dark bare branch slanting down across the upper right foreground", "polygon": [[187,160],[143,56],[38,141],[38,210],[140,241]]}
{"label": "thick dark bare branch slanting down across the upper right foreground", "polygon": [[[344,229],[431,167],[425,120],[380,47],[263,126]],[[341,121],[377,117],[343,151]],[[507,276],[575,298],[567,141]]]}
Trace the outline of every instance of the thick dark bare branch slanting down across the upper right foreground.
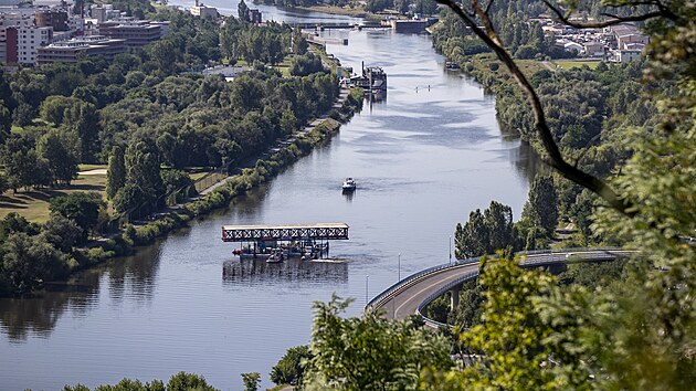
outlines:
{"label": "thick dark bare branch slanting down across the upper right foreground", "polygon": [[474,19],[464,12],[462,7],[457,4],[454,0],[437,0],[439,3],[449,7],[457,17],[464,21],[464,23],[468,27],[468,29],[474,32],[479,39],[484,41],[484,43],[491,47],[498,60],[505,64],[507,70],[513,74],[517,84],[523,89],[523,93],[527,97],[529,105],[531,106],[531,110],[534,113],[534,124],[544,145],[544,148],[548,155],[545,159],[546,162],[553,167],[558,172],[565,178],[591,190],[597,193],[600,198],[602,198],[611,208],[618,210],[619,212],[632,218],[636,214],[633,209],[633,204],[629,200],[624,200],[616,192],[609,187],[604,181],[594,177],[588,172],[584,172],[573,165],[570,165],[560,152],[556,140],[553,140],[553,136],[551,134],[551,129],[546,120],[546,115],[544,112],[544,107],[541,106],[541,101],[537,95],[537,92],[534,89],[525,74],[517,66],[517,63],[513,60],[512,55],[504,47],[502,40],[495,32],[493,27],[493,22],[491,18],[488,18],[487,9],[482,8],[478,0],[471,0],[471,7],[474,13],[481,19],[485,31],[477,25]]}

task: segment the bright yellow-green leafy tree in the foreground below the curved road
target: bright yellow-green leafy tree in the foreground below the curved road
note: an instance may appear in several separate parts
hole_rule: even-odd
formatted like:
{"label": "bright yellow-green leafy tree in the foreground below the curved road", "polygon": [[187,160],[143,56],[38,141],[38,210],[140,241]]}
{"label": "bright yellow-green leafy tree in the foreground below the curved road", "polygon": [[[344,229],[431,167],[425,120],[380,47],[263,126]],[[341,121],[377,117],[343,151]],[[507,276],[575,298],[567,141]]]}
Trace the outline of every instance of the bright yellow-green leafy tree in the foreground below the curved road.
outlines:
{"label": "bright yellow-green leafy tree in the foreground below the curved road", "polygon": [[[460,340],[485,359],[464,370],[431,368],[421,389],[592,389],[588,383],[590,368],[581,360],[590,357],[584,355],[578,332],[579,325],[588,319],[576,320],[567,314],[556,314],[556,319],[547,316],[545,300],[557,293],[551,275],[525,271],[515,260],[496,258],[484,260],[478,281],[485,289],[483,323],[463,331]],[[559,323],[563,323],[566,335],[557,335],[555,326]]]}

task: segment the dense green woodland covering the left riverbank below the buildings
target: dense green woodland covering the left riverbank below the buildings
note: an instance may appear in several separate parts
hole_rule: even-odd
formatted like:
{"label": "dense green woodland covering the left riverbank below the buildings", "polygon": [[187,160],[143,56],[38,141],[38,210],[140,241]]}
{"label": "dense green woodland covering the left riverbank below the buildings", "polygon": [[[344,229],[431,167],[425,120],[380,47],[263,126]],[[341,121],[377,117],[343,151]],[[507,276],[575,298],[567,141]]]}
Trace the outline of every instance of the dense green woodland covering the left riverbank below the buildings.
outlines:
{"label": "dense green woodland covering the left riverbank below the buildings", "polygon": [[[0,192],[70,188],[78,163],[108,163],[106,200],[73,192],[50,200],[44,224],[15,213],[0,222],[0,294],[64,277],[84,263],[75,246],[113,216],[190,196],[188,168],[231,172],[328,113],[338,95],[337,75],[287,25],[228,18],[221,28],[169,9],[148,17],[169,20],[169,34],[110,63],[83,57],[0,74]],[[201,74],[223,60],[246,71],[231,82]],[[274,67],[284,61],[285,75]]]}

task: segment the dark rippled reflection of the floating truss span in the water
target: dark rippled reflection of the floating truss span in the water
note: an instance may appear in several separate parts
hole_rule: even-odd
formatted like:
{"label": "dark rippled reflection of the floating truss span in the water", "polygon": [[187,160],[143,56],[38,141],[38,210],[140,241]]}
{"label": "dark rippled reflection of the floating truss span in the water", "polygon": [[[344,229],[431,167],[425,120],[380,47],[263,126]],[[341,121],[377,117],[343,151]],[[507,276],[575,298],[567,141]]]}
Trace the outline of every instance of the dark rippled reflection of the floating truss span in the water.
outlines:
{"label": "dark rippled reflection of the floating truss span in the water", "polygon": [[314,283],[346,283],[348,281],[348,262],[345,260],[299,258],[285,260],[270,264],[263,257],[256,260],[232,260],[222,266],[222,281],[225,285],[260,283],[277,284],[278,281]]}

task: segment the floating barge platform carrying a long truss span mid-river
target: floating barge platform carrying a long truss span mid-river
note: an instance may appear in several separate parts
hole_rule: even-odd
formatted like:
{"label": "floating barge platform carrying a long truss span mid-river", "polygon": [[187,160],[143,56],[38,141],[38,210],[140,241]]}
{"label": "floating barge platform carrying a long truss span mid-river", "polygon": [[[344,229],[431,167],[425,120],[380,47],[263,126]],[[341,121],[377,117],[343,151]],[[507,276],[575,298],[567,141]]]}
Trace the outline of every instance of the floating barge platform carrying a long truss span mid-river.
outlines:
{"label": "floating barge platform carrying a long truss span mid-river", "polygon": [[223,225],[222,241],[242,243],[233,251],[240,257],[316,260],[328,255],[329,241],[348,240],[348,229],[346,223]]}

